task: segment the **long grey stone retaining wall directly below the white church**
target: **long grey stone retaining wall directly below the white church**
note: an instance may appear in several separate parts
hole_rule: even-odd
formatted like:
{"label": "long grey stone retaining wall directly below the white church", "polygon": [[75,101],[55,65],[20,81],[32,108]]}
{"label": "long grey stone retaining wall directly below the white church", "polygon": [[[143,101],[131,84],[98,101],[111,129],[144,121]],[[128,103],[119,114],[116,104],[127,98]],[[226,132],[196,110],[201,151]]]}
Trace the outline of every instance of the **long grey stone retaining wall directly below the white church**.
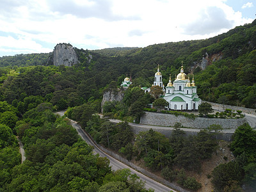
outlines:
{"label": "long grey stone retaining wall directly below the white church", "polygon": [[166,113],[145,112],[140,118],[140,124],[158,125],[165,127],[173,127],[176,122],[182,124],[183,127],[191,127],[196,129],[206,129],[212,124],[218,124],[223,129],[236,129],[240,125],[246,123],[245,118],[204,118],[196,117],[195,120],[185,116],[170,115]]}

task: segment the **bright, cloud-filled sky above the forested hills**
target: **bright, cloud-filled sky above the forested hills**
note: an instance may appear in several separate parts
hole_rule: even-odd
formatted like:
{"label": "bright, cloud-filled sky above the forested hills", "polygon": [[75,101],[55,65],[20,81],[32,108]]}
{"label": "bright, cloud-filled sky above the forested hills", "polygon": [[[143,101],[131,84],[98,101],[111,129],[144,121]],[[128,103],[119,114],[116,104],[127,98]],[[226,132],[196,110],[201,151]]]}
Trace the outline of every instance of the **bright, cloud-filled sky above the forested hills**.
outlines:
{"label": "bright, cloud-filled sky above the forested hills", "polygon": [[0,0],[0,57],[210,38],[255,19],[256,0]]}

